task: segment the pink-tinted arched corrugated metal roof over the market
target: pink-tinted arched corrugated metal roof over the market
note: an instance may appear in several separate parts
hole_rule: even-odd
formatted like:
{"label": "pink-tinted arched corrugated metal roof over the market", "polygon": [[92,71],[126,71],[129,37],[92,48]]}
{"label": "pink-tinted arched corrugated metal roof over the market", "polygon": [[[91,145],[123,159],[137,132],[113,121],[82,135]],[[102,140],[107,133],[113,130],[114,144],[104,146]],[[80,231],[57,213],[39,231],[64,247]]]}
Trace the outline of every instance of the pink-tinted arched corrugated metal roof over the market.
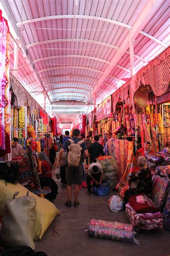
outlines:
{"label": "pink-tinted arched corrugated metal roof over the market", "polygon": [[[37,82],[32,69],[19,57],[19,80],[29,92],[36,91],[35,97],[42,88],[51,101],[67,96],[93,101],[96,93],[98,104],[123,84],[123,78],[131,77],[129,41],[134,45],[135,72],[169,46],[168,0],[2,3],[40,79]],[[11,42],[11,63],[13,50]]]}

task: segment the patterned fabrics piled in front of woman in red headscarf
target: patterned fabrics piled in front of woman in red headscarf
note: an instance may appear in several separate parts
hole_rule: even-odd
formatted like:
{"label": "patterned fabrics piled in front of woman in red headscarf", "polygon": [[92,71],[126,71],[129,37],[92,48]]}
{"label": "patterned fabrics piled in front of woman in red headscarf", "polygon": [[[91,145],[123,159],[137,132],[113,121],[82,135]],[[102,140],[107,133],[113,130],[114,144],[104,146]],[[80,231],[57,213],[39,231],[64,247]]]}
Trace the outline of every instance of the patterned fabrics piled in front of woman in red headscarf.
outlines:
{"label": "patterned fabrics piled in front of woman in red headscarf", "polygon": [[164,148],[158,153],[147,154],[147,166],[156,167],[157,164],[167,165],[170,163],[170,149]]}

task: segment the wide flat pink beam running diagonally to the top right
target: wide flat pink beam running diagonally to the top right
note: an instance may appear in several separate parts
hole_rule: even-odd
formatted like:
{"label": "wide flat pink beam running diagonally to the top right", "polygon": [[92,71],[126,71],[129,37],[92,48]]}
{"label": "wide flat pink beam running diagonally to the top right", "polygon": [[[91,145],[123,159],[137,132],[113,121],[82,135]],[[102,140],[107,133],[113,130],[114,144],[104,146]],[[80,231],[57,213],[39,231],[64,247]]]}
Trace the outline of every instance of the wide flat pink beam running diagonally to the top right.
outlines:
{"label": "wide flat pink beam running diagonally to the top right", "polygon": [[104,74],[101,75],[98,84],[94,87],[93,91],[91,92],[90,99],[93,97],[93,94],[100,88],[100,86],[105,81],[105,78],[110,74],[113,68],[117,65],[120,58],[126,53],[127,49],[129,48],[129,40],[135,40],[140,31],[146,26],[147,22],[150,20],[151,16],[155,13],[155,5],[157,8],[162,4],[162,1],[159,0],[148,0],[143,7],[142,11],[138,15],[136,21],[134,22],[133,26],[129,30],[129,33],[123,40],[120,48],[116,51],[116,54],[110,61],[110,64],[105,69]]}

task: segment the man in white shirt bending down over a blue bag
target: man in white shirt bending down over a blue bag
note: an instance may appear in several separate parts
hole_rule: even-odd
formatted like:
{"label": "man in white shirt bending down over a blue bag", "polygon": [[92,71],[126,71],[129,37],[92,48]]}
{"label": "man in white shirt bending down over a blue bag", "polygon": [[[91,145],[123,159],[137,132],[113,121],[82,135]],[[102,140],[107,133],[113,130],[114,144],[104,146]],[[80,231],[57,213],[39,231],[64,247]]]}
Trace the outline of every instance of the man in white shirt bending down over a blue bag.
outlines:
{"label": "man in white shirt bending down over a blue bag", "polygon": [[88,191],[86,194],[91,194],[91,180],[93,180],[96,185],[99,185],[102,183],[102,178],[103,169],[100,163],[91,163],[88,168],[88,178],[86,180],[88,186]]}

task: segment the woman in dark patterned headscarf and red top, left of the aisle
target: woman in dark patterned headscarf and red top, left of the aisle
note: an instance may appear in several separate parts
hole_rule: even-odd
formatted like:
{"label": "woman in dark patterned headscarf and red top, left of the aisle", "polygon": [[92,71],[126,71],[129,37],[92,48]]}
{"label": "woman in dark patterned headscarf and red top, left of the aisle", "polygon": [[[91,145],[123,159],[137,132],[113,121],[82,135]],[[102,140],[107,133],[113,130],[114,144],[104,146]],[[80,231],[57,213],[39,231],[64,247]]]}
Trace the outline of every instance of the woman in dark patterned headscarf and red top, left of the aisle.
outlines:
{"label": "woman in dark patterned headscarf and red top, left of the aisle", "polygon": [[43,178],[52,178],[52,173],[51,173],[52,165],[51,165],[51,162],[49,161],[46,153],[39,152],[38,158],[42,161],[41,172],[38,174],[42,174],[41,177],[43,177]]}

